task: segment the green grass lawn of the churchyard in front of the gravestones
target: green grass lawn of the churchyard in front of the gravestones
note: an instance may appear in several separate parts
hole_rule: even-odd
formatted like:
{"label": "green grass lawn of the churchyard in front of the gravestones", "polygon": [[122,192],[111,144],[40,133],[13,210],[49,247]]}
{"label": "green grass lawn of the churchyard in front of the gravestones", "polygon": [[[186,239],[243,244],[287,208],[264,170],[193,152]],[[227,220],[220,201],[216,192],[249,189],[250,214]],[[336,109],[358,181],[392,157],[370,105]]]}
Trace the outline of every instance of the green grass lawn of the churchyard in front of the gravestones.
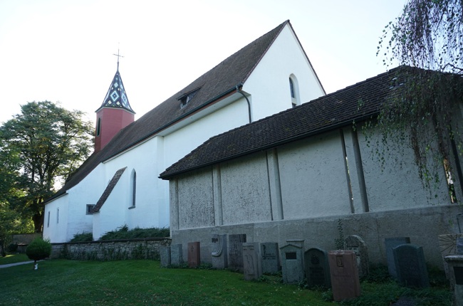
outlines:
{"label": "green grass lawn of the churchyard in front of the gravestones", "polygon": [[[5,258],[0,258],[4,264]],[[11,259],[10,259],[11,263]],[[431,287],[414,290],[373,268],[355,300],[333,302],[331,291],[286,285],[281,275],[246,281],[241,273],[200,268],[160,268],[155,260],[45,260],[0,269],[0,305],[452,305],[443,272],[430,270]],[[411,305],[411,304],[407,304]]]}

